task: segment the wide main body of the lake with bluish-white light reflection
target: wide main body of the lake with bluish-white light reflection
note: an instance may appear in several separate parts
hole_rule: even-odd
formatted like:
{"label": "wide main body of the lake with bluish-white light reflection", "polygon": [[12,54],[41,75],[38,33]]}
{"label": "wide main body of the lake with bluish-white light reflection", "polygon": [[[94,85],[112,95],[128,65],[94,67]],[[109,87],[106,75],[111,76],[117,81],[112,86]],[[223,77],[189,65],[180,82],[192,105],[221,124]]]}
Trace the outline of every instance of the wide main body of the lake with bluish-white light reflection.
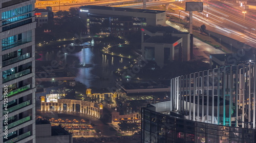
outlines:
{"label": "wide main body of the lake with bluish-white light reflection", "polygon": [[129,64],[129,61],[118,56],[102,54],[95,47],[84,48],[75,53],[79,58],[80,64],[92,64],[93,67],[78,68],[75,80],[87,85],[87,87],[112,88],[118,78],[113,74],[114,70]]}

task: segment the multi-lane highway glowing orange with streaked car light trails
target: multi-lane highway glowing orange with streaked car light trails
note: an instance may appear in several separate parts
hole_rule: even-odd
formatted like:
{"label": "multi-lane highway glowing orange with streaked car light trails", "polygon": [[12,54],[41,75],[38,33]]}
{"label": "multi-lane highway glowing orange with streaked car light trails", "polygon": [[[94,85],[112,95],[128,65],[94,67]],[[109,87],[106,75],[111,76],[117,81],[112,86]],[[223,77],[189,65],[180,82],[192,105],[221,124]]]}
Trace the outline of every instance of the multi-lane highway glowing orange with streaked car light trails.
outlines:
{"label": "multi-lane highway glowing orange with streaked car light trails", "polygon": [[[175,10],[176,13],[167,13],[177,16],[178,12],[185,10],[185,3],[171,4],[169,8]],[[208,2],[207,6],[207,1],[205,1],[204,11],[202,13],[193,13],[193,24],[197,26],[205,24],[206,29],[209,31],[225,35],[256,48],[256,14],[245,13],[244,23],[242,11],[242,9],[231,3],[212,0]],[[206,18],[206,13],[208,13],[208,18]],[[181,11],[181,15],[185,16],[188,13]],[[248,36],[249,33],[250,36]]]}

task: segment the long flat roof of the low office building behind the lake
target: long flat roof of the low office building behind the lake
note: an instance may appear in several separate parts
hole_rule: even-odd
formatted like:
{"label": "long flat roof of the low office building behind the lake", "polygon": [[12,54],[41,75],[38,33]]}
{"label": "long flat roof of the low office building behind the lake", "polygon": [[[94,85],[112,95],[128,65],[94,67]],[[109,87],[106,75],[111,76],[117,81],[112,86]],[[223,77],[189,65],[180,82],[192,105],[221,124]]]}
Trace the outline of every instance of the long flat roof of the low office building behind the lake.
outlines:
{"label": "long flat roof of the low office building behind the lake", "polygon": [[140,12],[140,13],[163,13],[163,12],[165,12],[165,11],[160,11],[160,10],[105,7],[105,6],[93,6],[93,5],[82,6],[79,9],[99,9],[99,10],[111,10],[111,11]]}

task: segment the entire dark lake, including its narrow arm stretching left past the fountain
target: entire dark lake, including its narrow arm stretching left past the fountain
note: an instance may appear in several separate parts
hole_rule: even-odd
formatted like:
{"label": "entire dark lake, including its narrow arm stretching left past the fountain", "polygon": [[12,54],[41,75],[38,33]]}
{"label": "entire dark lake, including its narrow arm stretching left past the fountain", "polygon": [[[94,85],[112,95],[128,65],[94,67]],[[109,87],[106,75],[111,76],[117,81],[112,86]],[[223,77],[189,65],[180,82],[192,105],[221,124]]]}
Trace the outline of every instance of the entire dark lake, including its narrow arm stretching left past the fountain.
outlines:
{"label": "entire dark lake, including its narrow arm stretching left past the fountain", "polygon": [[[65,47],[62,45],[61,47]],[[61,49],[60,47],[60,49]],[[56,56],[58,51],[42,51],[39,61],[60,61],[60,58]],[[74,63],[80,63],[80,65],[90,65],[89,67],[77,67],[75,80],[82,82],[87,88],[95,87],[112,88],[115,86],[117,76],[113,74],[113,71],[118,68],[123,68],[129,65],[129,60],[123,59],[119,56],[112,56],[109,54],[102,54],[98,47],[87,47],[81,51],[73,54],[65,54],[60,52],[65,58],[67,64],[74,65]],[[79,61],[79,62],[78,62]]]}

